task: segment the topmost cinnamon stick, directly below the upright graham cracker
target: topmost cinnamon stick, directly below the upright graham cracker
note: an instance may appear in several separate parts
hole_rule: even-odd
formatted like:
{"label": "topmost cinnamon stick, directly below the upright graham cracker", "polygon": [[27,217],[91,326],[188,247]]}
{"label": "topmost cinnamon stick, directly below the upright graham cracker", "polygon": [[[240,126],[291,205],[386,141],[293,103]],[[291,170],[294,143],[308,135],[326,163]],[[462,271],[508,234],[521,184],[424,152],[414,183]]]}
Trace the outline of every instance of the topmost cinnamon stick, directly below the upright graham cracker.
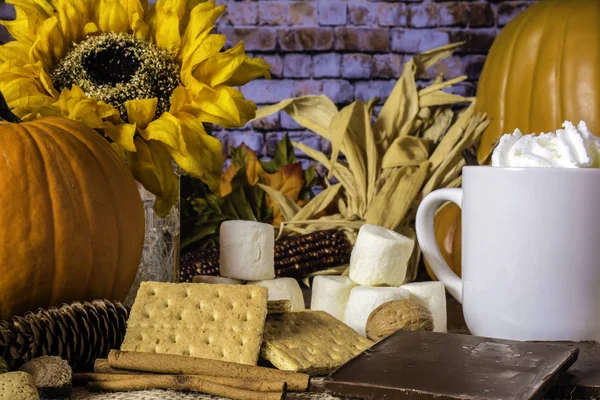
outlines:
{"label": "topmost cinnamon stick, directly below the upright graham cracker", "polygon": [[159,374],[285,381],[288,390],[300,392],[306,391],[310,380],[309,375],[297,372],[175,354],[111,350],[108,354],[108,363],[112,368]]}

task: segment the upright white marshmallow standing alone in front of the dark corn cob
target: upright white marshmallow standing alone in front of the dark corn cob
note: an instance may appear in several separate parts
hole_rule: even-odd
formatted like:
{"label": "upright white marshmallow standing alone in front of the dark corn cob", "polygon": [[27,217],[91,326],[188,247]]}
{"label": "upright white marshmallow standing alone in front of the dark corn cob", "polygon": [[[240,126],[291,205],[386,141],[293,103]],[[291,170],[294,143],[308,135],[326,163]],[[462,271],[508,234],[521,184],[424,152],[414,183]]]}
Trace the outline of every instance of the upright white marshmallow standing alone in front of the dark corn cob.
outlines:
{"label": "upright white marshmallow standing alone in front of the dark corn cob", "polygon": [[225,221],[219,235],[222,276],[244,281],[275,278],[275,230],[253,221]]}

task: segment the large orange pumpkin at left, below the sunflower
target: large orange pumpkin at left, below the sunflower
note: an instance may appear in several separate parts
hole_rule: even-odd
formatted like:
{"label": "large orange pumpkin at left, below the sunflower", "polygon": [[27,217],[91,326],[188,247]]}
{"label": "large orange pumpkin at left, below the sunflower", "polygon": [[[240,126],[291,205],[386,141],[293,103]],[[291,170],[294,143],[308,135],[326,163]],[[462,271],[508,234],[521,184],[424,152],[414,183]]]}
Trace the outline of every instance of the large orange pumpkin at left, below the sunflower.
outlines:
{"label": "large orange pumpkin at left, below the sunflower", "polygon": [[125,299],[144,210],[124,161],[97,132],[54,117],[1,123],[0,207],[1,319]]}

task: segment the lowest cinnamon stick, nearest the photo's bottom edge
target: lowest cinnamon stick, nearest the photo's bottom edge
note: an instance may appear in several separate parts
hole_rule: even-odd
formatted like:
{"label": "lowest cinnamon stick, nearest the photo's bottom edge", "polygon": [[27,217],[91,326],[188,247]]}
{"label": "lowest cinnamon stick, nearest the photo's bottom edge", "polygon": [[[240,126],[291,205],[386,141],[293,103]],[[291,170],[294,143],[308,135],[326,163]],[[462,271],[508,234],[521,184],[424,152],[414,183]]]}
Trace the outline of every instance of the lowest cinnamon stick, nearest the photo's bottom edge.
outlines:
{"label": "lowest cinnamon stick, nearest the photo's bottom edge", "polygon": [[[285,384],[284,384],[285,386]],[[220,385],[196,376],[155,375],[152,377],[132,376],[131,379],[108,382],[90,382],[90,392],[122,392],[129,390],[166,389],[193,391],[235,400],[283,400],[285,391],[257,392]]]}

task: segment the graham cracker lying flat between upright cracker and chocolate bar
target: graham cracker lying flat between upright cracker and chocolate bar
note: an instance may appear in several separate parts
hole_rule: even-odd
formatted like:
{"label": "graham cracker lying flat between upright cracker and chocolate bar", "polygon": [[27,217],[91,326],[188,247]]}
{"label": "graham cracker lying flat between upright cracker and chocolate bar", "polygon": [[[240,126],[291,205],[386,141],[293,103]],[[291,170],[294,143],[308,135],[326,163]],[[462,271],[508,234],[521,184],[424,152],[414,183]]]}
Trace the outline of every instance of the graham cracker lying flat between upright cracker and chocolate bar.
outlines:
{"label": "graham cracker lying flat between upright cracker and chocolate bar", "polygon": [[324,311],[267,316],[261,356],[276,368],[327,374],[373,342]]}

